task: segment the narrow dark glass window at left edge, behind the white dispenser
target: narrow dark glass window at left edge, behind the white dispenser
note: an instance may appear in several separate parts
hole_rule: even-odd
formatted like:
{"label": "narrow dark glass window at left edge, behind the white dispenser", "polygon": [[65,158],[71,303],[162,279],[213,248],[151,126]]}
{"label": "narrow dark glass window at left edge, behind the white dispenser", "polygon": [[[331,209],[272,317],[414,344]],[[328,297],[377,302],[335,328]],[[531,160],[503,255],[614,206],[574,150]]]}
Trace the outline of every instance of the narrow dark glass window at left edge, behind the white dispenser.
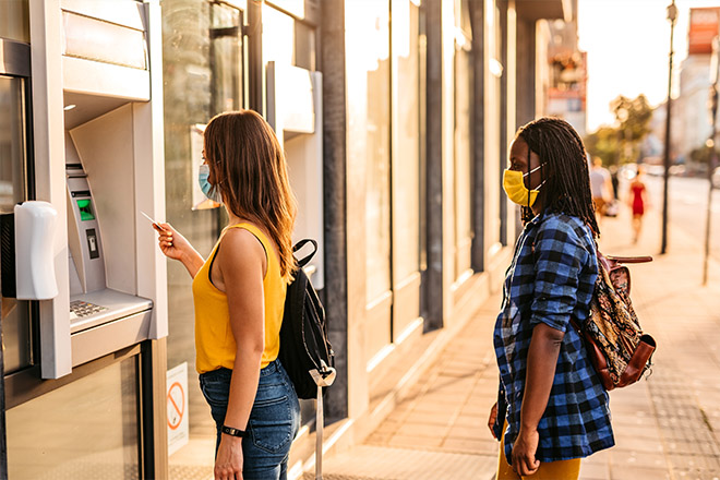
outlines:
{"label": "narrow dark glass window at left edge, behind the white dispenser", "polygon": [[[5,235],[16,203],[27,199],[26,192],[26,116],[25,81],[0,75],[0,221]],[[9,252],[2,252],[8,255]],[[10,264],[14,275],[14,259],[9,255],[3,264]],[[12,373],[33,364],[33,343],[29,302],[16,300],[8,286],[2,286],[2,348],[4,373]]]}

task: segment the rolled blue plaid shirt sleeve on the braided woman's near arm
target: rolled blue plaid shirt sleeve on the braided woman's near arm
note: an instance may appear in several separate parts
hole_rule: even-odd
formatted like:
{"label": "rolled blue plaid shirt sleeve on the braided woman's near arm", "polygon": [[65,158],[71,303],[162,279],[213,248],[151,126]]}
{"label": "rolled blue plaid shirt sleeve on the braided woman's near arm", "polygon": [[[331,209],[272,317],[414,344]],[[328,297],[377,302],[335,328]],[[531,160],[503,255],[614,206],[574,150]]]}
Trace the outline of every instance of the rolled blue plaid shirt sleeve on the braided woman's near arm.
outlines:
{"label": "rolled blue plaid shirt sleeve on the braided woman's near arm", "polygon": [[573,226],[557,217],[543,221],[535,239],[535,288],[530,325],[542,322],[566,332],[577,303],[589,253]]}

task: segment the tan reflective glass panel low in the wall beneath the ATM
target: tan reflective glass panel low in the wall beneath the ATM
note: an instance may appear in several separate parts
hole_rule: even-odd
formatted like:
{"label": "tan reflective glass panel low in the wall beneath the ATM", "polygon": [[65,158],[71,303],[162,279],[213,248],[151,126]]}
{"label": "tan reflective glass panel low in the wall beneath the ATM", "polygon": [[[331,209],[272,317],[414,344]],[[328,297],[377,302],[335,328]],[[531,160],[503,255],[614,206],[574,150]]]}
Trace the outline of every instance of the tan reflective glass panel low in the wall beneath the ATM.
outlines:
{"label": "tan reflective glass panel low in the wall beneath the ATM", "polygon": [[11,479],[140,478],[137,358],[5,412]]}

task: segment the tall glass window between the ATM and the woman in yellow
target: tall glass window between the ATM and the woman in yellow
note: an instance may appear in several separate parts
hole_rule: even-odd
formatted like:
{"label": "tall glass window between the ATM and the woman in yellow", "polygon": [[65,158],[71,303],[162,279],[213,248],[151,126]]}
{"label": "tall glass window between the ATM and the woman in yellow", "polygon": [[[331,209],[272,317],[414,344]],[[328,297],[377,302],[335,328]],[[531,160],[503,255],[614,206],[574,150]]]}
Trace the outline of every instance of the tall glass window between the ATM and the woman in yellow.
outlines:
{"label": "tall glass window between the ATM and the woman in yellow", "polygon": [[[161,7],[167,220],[206,257],[227,216],[224,208],[192,209],[202,129],[216,113],[244,105],[242,11],[207,0]],[[170,471],[200,478],[212,476],[215,424],[195,373],[191,283],[180,262],[168,263],[168,368],[188,362],[190,423],[190,447],[170,456]]]}

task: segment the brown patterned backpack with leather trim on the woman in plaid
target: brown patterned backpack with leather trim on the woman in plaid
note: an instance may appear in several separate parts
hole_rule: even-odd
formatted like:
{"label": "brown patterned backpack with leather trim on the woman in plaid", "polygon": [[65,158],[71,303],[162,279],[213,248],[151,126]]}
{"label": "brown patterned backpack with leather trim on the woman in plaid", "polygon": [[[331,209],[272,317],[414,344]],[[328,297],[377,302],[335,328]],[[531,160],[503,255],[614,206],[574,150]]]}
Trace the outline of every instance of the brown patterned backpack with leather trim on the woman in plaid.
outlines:
{"label": "brown patterned backpack with leather trim on the woman in plaid", "polygon": [[585,339],[590,361],[605,389],[637,382],[649,370],[655,339],[643,332],[629,299],[629,269],[625,264],[651,256],[603,256],[598,252],[598,279],[584,325],[573,326]]}

